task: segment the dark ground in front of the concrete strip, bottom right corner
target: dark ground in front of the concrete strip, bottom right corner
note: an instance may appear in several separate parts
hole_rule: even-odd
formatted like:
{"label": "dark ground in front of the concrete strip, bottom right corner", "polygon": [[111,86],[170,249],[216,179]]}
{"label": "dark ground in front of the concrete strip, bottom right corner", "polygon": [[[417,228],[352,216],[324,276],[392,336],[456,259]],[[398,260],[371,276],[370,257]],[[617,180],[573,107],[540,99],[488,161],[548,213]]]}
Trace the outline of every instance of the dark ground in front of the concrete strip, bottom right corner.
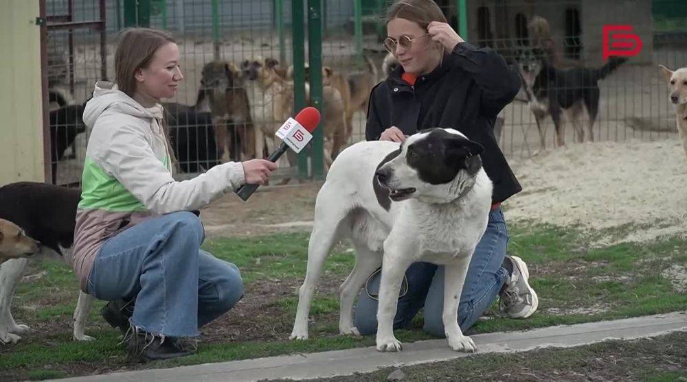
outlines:
{"label": "dark ground in front of the concrete strip, bottom right corner", "polygon": [[[578,348],[475,355],[313,381],[687,381],[686,340],[687,332],[677,332]],[[398,370],[403,379],[392,377]]]}

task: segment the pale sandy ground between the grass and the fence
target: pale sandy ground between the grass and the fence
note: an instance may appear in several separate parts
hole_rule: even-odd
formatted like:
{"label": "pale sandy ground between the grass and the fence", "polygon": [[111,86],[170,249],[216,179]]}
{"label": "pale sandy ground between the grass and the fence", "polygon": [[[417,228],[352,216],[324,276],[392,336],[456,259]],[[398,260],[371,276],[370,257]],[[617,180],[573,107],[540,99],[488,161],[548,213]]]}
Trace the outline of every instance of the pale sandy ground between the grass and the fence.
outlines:
{"label": "pale sandy ground between the grass and the fence", "polygon": [[[504,203],[508,222],[581,226],[600,235],[600,245],[686,235],[687,159],[677,139],[572,143],[510,164],[523,191]],[[321,184],[266,187],[247,202],[227,195],[203,210],[205,229],[219,236],[310,230]]]}

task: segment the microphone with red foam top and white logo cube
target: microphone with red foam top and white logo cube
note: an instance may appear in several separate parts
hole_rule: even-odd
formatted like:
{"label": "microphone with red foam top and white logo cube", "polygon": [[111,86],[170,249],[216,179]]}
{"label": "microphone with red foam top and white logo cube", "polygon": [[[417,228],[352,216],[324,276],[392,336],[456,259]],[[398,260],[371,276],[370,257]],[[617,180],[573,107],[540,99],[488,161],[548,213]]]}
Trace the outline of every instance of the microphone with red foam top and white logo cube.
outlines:
{"label": "microphone with red foam top and white logo cube", "polygon": [[[276,163],[279,157],[284,155],[286,150],[289,150],[289,147],[297,153],[301,152],[303,147],[313,139],[311,132],[317,128],[319,118],[319,110],[312,106],[308,106],[301,110],[296,115],[295,119],[287,119],[275,134],[282,139],[282,143],[277,147],[277,150],[269,154],[267,160]],[[259,186],[260,184],[243,184],[243,186],[236,191],[236,195],[245,202]]]}

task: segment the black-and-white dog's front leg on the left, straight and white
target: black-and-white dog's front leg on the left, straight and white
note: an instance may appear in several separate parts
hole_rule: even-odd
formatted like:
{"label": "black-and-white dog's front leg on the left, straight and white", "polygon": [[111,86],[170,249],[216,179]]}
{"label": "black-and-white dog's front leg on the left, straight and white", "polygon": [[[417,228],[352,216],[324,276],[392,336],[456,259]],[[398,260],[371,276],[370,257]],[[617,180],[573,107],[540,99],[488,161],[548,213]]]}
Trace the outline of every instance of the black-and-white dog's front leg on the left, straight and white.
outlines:
{"label": "black-and-white dog's front leg on the left, straight and white", "polygon": [[394,337],[394,317],[396,317],[398,293],[401,290],[403,275],[413,263],[415,254],[405,250],[388,251],[385,245],[379,285],[379,304],[377,305],[376,345],[379,351],[401,350],[401,342]]}

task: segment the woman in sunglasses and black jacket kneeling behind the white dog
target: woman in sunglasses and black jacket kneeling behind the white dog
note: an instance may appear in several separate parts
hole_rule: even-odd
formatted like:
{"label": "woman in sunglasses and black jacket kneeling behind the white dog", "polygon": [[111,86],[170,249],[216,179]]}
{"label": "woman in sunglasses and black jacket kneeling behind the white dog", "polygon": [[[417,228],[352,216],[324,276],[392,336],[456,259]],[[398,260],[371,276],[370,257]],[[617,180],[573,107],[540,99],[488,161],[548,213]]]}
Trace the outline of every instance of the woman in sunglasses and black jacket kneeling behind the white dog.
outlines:
{"label": "woman in sunglasses and black jacket kneeling behind the white dog", "polygon": [[[520,77],[493,49],[477,49],[460,38],[432,0],[395,1],[386,21],[384,45],[400,65],[372,89],[365,136],[401,143],[419,130],[453,128],[484,147],[493,205],[466,275],[458,323],[466,331],[497,298],[508,317],[529,317],[537,310],[537,294],[525,262],[506,256],[508,229],[500,208],[521,187],[493,132],[497,114],[519,91]],[[444,267],[414,263],[405,276],[394,329],[424,308],[425,331],[443,337]],[[361,334],[376,332],[379,280],[378,270],[359,295],[355,324]]]}

